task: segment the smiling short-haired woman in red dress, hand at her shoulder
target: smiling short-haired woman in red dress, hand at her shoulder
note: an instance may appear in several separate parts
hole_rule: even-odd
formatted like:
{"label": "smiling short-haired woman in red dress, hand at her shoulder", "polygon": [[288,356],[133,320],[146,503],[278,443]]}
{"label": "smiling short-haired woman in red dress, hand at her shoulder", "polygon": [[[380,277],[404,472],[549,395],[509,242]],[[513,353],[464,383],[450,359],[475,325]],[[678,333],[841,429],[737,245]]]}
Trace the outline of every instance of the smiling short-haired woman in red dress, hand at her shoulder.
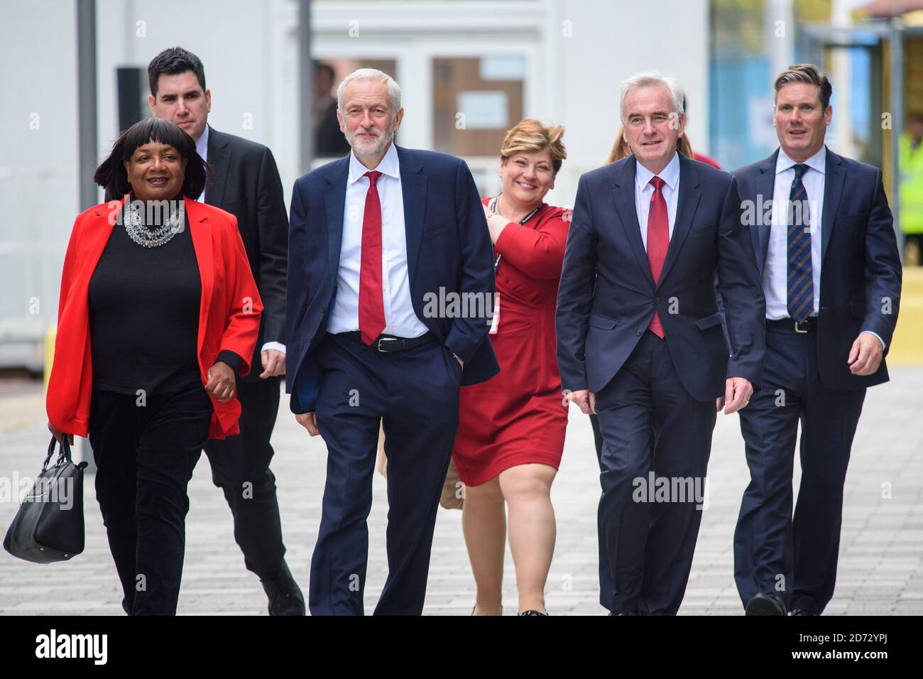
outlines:
{"label": "smiling short-haired woman in red dress, hand at her shoulder", "polygon": [[502,193],[486,199],[497,261],[490,340],[499,373],[462,387],[453,459],[464,483],[462,528],[477,599],[474,614],[499,615],[507,537],[521,615],[545,615],[555,551],[551,483],[564,449],[568,410],[555,348],[557,282],[569,212],[542,202],[567,156],[564,127],[526,119],[500,149]]}

